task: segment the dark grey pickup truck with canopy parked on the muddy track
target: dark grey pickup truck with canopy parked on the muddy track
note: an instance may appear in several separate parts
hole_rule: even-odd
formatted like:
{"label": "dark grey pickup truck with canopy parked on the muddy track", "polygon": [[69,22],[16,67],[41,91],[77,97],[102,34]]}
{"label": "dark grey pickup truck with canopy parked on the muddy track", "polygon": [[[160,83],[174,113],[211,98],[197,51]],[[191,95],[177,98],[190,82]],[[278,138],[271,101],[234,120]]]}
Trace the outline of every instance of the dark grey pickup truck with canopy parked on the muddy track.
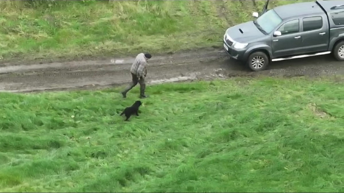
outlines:
{"label": "dark grey pickup truck with canopy parked on the muddy track", "polygon": [[257,18],[230,27],[223,47],[252,71],[272,61],[333,53],[344,61],[344,0],[292,3],[268,10],[267,0]]}

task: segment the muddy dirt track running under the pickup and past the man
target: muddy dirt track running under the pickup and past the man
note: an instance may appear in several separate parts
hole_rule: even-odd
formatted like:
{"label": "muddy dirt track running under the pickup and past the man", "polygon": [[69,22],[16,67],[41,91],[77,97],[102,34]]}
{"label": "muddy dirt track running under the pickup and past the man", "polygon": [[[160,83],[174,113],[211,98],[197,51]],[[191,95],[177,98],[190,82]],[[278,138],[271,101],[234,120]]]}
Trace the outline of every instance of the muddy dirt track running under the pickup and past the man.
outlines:
{"label": "muddy dirt track running under the pickup and past the man", "polygon": [[[98,89],[130,82],[133,58],[73,61],[0,67],[0,91]],[[331,55],[275,62],[269,70],[251,72],[223,50],[212,49],[149,60],[148,84],[233,76],[320,76],[343,75],[344,64]]]}

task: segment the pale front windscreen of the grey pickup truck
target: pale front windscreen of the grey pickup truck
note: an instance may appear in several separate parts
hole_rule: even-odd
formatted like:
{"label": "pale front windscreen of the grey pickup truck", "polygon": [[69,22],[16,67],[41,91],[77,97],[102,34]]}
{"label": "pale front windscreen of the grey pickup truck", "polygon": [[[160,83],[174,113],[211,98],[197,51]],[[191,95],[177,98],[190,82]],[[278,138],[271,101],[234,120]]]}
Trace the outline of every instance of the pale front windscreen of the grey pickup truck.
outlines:
{"label": "pale front windscreen of the grey pickup truck", "polygon": [[256,21],[257,24],[269,34],[282,22],[282,19],[273,9],[270,9],[266,13],[262,14]]}

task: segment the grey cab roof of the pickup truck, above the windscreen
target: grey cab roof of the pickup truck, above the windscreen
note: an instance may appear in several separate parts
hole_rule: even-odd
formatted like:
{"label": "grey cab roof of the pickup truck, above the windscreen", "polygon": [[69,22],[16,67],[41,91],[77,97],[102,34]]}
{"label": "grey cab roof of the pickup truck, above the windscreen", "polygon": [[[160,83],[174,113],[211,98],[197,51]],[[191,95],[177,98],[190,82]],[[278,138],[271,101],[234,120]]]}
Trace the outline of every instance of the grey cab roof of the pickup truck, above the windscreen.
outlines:
{"label": "grey cab roof of the pickup truck, above the windscreen", "polygon": [[[333,0],[332,0],[333,1]],[[337,1],[337,0],[334,0]],[[344,1],[344,0],[339,0]],[[324,1],[326,2],[326,1]],[[291,3],[273,8],[281,19],[288,19],[299,15],[323,14],[324,11],[315,1]]]}

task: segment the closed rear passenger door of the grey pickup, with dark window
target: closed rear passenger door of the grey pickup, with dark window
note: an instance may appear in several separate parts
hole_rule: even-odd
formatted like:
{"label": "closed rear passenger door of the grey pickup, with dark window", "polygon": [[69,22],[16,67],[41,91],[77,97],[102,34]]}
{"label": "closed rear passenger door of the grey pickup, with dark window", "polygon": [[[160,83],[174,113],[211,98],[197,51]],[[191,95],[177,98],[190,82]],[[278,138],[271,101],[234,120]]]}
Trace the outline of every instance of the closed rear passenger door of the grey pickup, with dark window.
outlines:
{"label": "closed rear passenger door of the grey pickup, with dark window", "polygon": [[324,15],[302,18],[300,54],[326,52],[329,48],[329,24]]}

